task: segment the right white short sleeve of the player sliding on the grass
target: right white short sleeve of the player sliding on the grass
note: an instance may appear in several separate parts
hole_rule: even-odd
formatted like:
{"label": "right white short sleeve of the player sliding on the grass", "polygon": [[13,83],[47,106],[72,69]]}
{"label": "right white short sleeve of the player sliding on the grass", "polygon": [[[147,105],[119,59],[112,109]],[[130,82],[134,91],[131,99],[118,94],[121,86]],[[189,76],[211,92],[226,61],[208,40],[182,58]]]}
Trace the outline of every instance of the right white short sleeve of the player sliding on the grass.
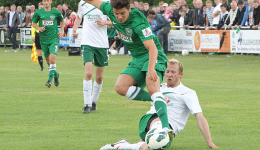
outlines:
{"label": "right white short sleeve of the player sliding on the grass", "polygon": [[184,94],[184,102],[192,114],[202,112],[199,105],[199,99],[195,91],[190,91],[189,93]]}

